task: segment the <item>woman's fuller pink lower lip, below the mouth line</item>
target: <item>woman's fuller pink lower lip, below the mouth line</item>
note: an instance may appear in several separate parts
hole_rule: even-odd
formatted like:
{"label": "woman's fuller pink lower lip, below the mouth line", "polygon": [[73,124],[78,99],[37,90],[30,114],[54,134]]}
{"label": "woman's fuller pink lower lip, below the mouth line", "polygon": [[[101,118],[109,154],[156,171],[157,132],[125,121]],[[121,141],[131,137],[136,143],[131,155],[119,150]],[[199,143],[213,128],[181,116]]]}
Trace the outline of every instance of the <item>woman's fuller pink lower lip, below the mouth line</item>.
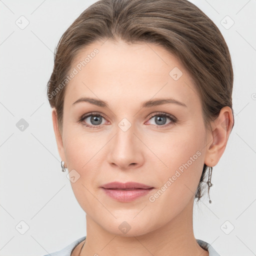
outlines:
{"label": "woman's fuller pink lower lip, below the mouth line", "polygon": [[132,201],[140,196],[146,195],[153,188],[148,188],[148,189],[136,188],[136,189],[132,189],[132,190],[123,190],[123,189],[108,189],[108,188],[102,187],[102,189],[110,197],[112,197],[118,201],[128,202],[128,201]]}

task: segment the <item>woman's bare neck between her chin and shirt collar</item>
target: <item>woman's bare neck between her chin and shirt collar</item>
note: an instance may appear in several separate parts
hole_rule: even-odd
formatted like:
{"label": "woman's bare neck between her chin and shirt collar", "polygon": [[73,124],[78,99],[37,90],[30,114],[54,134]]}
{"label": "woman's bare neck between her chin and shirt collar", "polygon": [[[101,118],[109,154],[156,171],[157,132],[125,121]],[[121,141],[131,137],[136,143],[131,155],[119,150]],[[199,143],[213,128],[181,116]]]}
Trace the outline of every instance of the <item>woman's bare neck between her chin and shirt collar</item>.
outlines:
{"label": "woman's bare neck between her chin and shirt collar", "polygon": [[109,233],[86,214],[86,240],[80,256],[208,256],[196,242],[192,225],[193,198],[169,222],[149,233],[120,236]]}

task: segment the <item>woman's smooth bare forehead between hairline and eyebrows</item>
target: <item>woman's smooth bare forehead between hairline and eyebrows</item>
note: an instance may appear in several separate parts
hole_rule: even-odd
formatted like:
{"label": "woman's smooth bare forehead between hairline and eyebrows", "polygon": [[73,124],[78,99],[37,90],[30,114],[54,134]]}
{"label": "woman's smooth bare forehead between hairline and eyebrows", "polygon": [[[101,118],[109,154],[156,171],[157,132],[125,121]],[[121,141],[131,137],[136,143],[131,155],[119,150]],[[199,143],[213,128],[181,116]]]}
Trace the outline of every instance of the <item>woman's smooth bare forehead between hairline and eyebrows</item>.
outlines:
{"label": "woman's smooth bare forehead between hairline and eyebrows", "polygon": [[136,102],[168,94],[183,101],[199,100],[181,61],[152,43],[94,42],[78,52],[69,70],[75,75],[66,87],[67,104],[81,96]]}

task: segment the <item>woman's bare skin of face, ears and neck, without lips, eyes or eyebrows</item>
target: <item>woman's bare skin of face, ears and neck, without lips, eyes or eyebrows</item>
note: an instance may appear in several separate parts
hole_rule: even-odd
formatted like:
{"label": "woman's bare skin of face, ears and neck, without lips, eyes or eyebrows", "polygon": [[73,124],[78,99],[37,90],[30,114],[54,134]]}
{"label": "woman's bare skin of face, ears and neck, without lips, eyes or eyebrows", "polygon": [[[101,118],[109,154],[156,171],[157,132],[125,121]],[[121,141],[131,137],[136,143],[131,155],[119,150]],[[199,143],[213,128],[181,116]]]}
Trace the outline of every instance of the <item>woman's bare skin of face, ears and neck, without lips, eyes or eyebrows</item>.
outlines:
{"label": "woman's bare skin of face, ears and neck, without lips, eyes or eyebrows", "polygon": [[[211,122],[212,130],[207,130],[193,80],[174,55],[156,44],[93,42],[79,52],[70,70],[94,48],[99,53],[66,85],[62,131],[52,110],[61,160],[68,171],[75,169],[80,175],[70,182],[86,212],[86,243],[80,255],[208,255],[193,234],[194,194],[203,163],[216,165],[224,152],[233,122],[231,109],[223,107]],[[178,80],[169,75],[174,67],[182,71]],[[85,96],[107,101],[108,107],[89,102],[72,105]],[[141,107],[145,100],[166,97],[186,107],[174,103]],[[94,129],[84,125],[93,125],[90,118],[77,122],[91,111],[105,115]],[[151,117],[159,111],[177,121],[166,117],[161,127]],[[123,118],[131,124],[126,131],[118,127]],[[197,151],[200,156],[155,201],[149,201]],[[131,202],[119,202],[100,188],[111,181],[136,181],[154,189]],[[126,233],[118,228],[123,221],[130,226]],[[82,244],[72,256],[79,254]]]}

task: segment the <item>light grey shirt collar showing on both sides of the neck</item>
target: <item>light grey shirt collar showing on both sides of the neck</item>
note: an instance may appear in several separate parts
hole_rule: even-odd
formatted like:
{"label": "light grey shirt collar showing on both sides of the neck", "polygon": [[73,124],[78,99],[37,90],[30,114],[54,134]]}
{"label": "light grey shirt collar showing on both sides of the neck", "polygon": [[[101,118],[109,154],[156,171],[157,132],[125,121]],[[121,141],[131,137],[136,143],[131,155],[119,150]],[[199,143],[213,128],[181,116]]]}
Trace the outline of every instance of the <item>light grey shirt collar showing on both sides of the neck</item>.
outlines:
{"label": "light grey shirt collar showing on both sides of the neck", "polygon": [[[47,254],[47,255],[43,255],[43,256],[70,256],[71,255],[71,252],[72,250],[74,249],[74,247],[79,243],[81,242],[82,240],[84,240],[86,238],[86,236],[83,236],[75,241],[73,241],[72,243],[68,244],[66,247],[64,247],[63,249],[61,250],[58,250],[58,251],[55,251],[55,252],[52,252],[50,254]],[[199,239],[196,239],[197,243],[205,250],[208,250],[209,252],[209,256],[220,256],[214,249],[213,247],[203,241],[203,240],[199,240]]]}

